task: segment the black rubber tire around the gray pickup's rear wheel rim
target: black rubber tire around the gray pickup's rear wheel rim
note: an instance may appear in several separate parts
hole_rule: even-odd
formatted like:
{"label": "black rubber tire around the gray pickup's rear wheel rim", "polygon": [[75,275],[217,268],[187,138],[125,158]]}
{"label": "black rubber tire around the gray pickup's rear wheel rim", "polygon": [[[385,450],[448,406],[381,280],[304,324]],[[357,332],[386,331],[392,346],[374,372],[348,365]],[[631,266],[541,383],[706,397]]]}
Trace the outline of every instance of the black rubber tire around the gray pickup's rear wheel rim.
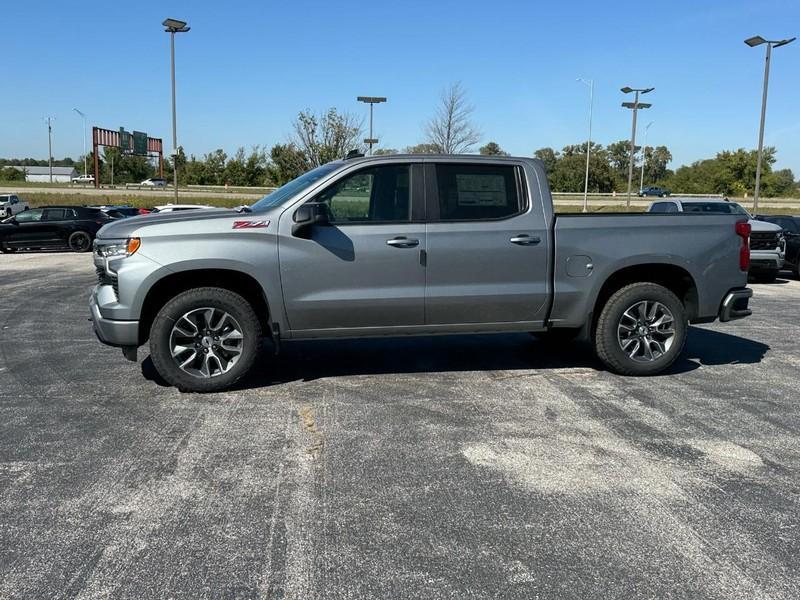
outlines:
{"label": "black rubber tire around the gray pickup's rear wheel rim", "polygon": [[[622,349],[618,339],[618,328],[625,311],[640,302],[658,302],[665,306],[673,317],[674,336],[663,354],[646,362],[634,360]],[[655,283],[633,283],[614,293],[606,302],[595,329],[594,343],[598,358],[619,375],[655,375],[669,368],[680,356],[686,344],[689,323],[686,309],[678,297],[667,288]],[[648,344],[649,346],[649,344]]]}

